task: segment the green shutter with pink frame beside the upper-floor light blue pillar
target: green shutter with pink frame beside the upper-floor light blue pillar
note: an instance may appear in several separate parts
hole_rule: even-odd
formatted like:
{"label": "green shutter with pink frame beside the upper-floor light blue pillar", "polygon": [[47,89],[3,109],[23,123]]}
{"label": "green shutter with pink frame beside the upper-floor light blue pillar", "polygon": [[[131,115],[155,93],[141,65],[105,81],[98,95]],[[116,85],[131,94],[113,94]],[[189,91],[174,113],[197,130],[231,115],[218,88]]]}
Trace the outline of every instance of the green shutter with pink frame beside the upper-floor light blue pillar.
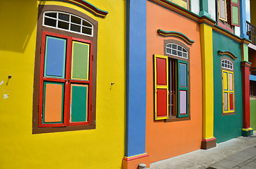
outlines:
{"label": "green shutter with pink frame beside the upper-floor light blue pillar", "polygon": [[239,0],[231,0],[231,25],[240,26]]}

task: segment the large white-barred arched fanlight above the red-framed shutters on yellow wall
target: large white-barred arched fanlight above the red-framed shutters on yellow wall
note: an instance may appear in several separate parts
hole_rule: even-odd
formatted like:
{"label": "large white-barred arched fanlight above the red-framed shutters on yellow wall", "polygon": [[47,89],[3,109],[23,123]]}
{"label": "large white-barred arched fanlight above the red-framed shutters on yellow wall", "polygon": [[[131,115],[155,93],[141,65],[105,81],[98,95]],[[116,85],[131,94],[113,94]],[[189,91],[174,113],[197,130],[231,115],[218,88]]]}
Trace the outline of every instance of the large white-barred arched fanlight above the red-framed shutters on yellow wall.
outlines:
{"label": "large white-barred arched fanlight above the red-framed shutters on yellow wall", "polygon": [[82,35],[93,36],[93,25],[79,16],[59,11],[45,11],[42,25]]}

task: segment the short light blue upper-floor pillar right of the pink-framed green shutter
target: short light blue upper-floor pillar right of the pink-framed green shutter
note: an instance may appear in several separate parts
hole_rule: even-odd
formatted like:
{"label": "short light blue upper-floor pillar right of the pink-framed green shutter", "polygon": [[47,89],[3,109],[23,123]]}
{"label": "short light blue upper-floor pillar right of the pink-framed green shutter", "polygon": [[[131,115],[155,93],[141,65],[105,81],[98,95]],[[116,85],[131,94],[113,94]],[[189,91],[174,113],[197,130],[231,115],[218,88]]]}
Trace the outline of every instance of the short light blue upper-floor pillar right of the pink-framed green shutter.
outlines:
{"label": "short light blue upper-floor pillar right of the pink-framed green shutter", "polygon": [[246,35],[247,27],[246,27],[246,1],[240,0],[240,37],[249,39],[248,35]]}

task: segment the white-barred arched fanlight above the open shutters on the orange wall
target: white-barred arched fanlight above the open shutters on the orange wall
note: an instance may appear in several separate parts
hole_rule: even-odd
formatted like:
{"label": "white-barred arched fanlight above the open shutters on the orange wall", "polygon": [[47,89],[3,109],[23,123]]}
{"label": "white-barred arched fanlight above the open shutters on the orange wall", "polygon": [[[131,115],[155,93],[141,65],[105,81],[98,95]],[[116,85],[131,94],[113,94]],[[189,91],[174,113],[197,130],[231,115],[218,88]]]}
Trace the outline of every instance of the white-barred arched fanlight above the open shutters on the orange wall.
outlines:
{"label": "white-barred arched fanlight above the open shutters on the orange wall", "polygon": [[180,58],[187,58],[187,49],[180,46],[180,44],[169,43],[166,44],[166,54],[171,54]]}

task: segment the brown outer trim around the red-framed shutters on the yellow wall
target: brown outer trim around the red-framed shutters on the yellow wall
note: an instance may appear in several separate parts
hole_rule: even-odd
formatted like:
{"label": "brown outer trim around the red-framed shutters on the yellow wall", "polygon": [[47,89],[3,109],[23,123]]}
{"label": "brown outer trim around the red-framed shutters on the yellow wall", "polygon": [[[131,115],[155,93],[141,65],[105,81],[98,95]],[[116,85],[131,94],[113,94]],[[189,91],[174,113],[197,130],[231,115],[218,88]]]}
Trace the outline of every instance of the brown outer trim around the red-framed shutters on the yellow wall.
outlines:
{"label": "brown outer trim around the red-framed shutters on the yellow wall", "polygon": [[[73,32],[67,32],[64,30],[57,30],[51,27],[44,27],[42,25],[43,13],[45,11],[62,11],[66,13],[71,13],[84,18],[93,24],[93,37],[87,35],[80,35]],[[80,39],[88,39],[93,41],[93,78],[92,78],[92,111],[91,111],[91,125],[74,125],[66,127],[38,127],[39,123],[39,97],[40,97],[40,51],[42,43],[42,31],[53,32],[61,35],[67,35],[70,37],[76,37]],[[97,77],[97,46],[98,46],[98,21],[93,20],[93,18],[88,15],[76,11],[72,8],[67,8],[64,6],[38,6],[38,18],[37,18],[37,39],[36,39],[36,49],[35,49],[35,71],[34,71],[34,90],[33,90],[33,134],[47,133],[47,132],[65,132],[73,130],[89,130],[95,129],[95,119],[96,119],[96,77]]]}

